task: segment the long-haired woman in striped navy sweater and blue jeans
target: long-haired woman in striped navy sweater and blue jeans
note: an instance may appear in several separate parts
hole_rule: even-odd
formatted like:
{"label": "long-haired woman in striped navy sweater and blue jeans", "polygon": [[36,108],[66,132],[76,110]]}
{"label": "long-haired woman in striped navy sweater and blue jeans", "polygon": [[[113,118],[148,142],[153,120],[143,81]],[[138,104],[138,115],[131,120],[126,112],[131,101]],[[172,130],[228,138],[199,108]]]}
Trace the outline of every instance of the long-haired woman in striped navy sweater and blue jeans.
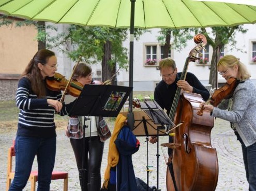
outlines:
{"label": "long-haired woman in striped navy sweater and blue jeans", "polygon": [[20,109],[15,140],[15,176],[9,190],[22,190],[27,183],[35,156],[38,163],[38,190],[50,190],[55,162],[56,132],[54,112],[67,115],[70,105],[59,102],[61,91],[47,89],[46,77],[57,70],[55,54],[39,50],[28,63],[18,83],[16,103]]}

